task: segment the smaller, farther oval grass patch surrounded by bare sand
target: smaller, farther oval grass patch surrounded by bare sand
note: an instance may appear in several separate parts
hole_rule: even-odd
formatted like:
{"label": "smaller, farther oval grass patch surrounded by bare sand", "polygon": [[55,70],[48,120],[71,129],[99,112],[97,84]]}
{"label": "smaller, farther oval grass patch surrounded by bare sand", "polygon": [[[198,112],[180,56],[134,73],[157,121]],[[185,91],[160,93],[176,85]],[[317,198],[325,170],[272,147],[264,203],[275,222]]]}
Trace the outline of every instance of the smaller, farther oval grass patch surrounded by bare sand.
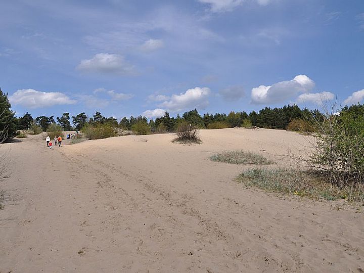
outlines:
{"label": "smaller, farther oval grass patch surrounded by bare sand", "polygon": [[209,159],[212,161],[238,164],[238,165],[247,165],[247,164],[268,165],[275,163],[274,161],[267,159],[261,155],[250,152],[244,152],[241,150],[223,152],[217,155],[213,155],[209,157]]}

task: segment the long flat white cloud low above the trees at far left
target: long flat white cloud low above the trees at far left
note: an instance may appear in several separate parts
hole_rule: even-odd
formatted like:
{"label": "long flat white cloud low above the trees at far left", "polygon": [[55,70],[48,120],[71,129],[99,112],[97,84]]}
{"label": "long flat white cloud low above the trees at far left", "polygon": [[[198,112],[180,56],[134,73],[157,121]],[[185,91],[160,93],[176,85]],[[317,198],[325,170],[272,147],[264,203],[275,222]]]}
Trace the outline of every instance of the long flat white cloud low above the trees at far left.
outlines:
{"label": "long flat white cloud low above the trees at far left", "polygon": [[31,109],[76,103],[63,93],[40,92],[34,89],[19,89],[9,97],[9,100],[14,105],[19,104]]}

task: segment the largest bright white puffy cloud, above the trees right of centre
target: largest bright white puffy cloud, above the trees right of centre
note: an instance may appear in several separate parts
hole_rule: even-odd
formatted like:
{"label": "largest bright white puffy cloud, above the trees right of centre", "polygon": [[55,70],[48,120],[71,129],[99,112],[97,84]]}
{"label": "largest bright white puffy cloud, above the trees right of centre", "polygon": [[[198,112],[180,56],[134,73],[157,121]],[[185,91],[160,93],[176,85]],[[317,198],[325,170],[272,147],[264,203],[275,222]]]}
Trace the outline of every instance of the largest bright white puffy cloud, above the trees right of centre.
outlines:
{"label": "largest bright white puffy cloud, above the trees right of centre", "polygon": [[297,75],[292,80],[280,81],[269,86],[254,87],[251,90],[251,102],[253,104],[284,102],[299,93],[308,93],[314,85],[314,81],[306,75]]}

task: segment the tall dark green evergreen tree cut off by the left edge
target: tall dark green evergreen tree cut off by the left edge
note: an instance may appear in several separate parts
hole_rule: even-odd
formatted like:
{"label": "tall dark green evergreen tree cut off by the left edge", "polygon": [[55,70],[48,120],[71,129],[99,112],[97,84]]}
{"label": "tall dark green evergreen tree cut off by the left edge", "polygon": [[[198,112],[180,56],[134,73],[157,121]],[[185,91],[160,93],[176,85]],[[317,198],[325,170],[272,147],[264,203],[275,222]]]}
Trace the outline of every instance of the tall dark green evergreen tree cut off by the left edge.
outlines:
{"label": "tall dark green evergreen tree cut off by the left edge", "polygon": [[3,93],[0,88],[0,134],[3,136],[1,141],[7,141],[15,135],[17,124],[14,115],[8,94]]}

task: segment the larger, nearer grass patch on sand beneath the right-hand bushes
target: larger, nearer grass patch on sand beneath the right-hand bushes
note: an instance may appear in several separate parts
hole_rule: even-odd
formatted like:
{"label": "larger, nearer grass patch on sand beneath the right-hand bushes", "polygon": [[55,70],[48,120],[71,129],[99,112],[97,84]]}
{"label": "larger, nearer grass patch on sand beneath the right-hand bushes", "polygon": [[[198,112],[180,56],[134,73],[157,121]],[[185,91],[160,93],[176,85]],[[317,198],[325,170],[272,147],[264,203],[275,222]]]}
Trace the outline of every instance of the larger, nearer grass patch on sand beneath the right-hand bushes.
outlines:
{"label": "larger, nearer grass patch on sand beneath the right-hand bushes", "polygon": [[[243,171],[236,178],[238,183],[269,192],[279,192],[326,199],[329,201],[347,199],[350,188],[339,188],[326,183],[324,177],[309,171],[291,168],[265,169],[254,167]],[[351,196],[352,201],[362,201],[363,189],[357,188]]]}

